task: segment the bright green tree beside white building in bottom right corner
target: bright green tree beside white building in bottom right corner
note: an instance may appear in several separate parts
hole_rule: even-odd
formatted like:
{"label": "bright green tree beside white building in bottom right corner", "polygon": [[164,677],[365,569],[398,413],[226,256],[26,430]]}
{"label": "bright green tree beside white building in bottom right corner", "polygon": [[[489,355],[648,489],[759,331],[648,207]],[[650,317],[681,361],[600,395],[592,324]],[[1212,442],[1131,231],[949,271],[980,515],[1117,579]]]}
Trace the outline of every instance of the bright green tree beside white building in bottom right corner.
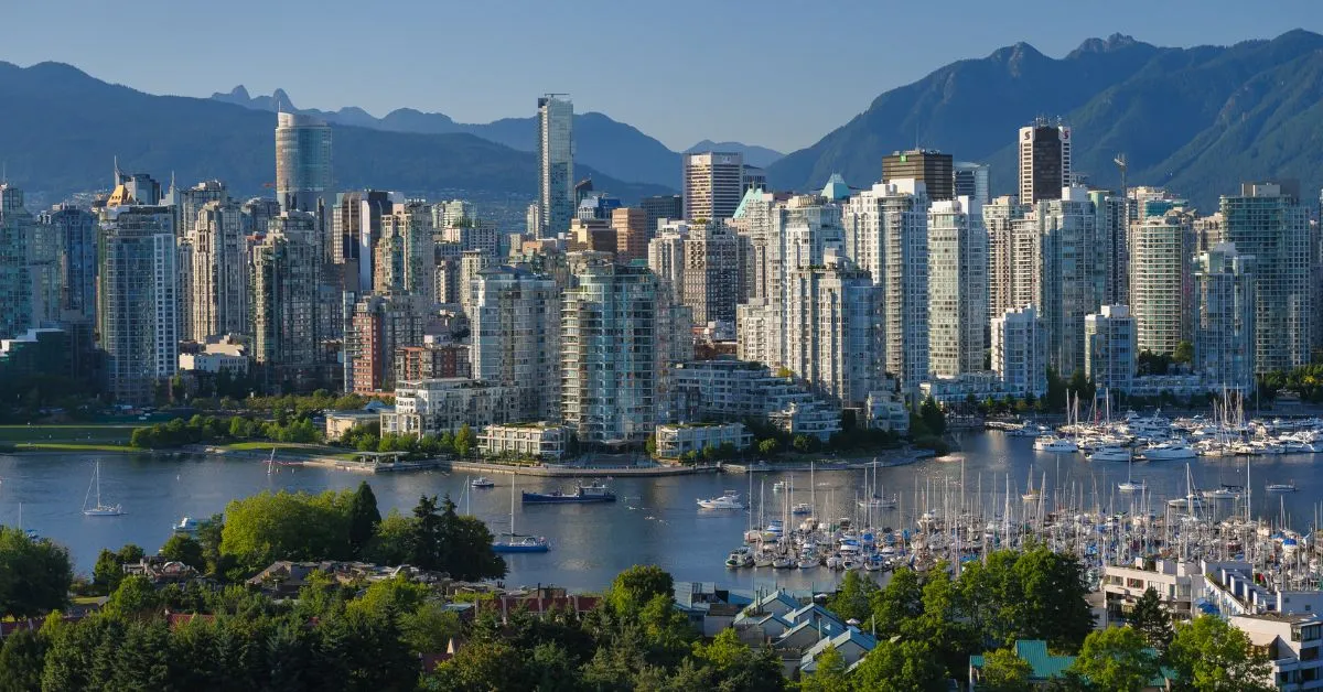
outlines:
{"label": "bright green tree beside white building in bottom right corner", "polygon": [[1176,627],[1167,664],[1179,689],[1273,689],[1263,683],[1271,673],[1267,656],[1244,631],[1212,615]]}

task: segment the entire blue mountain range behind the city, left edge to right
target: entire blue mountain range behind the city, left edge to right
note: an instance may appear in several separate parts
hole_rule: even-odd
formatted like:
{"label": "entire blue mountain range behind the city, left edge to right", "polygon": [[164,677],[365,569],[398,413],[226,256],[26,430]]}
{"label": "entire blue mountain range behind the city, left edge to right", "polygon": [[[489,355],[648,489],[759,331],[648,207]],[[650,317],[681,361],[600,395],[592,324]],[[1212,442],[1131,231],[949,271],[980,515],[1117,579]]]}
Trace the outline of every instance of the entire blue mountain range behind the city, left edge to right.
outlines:
{"label": "entire blue mountain range behind the city, left edge to right", "polygon": [[[105,188],[114,156],[126,169],[218,177],[258,192],[274,177],[283,91],[238,87],[209,99],[151,95],[69,65],[0,62],[0,160],[11,181],[64,195]],[[361,108],[315,112],[335,124],[335,176],[344,189],[533,197],[533,118],[455,123],[437,112]],[[1323,36],[1293,30],[1232,46],[1158,48],[1127,36],[1090,38],[1065,57],[1028,44],[962,60],[878,95],[864,112],[781,157],[738,143],[778,189],[818,189],[832,172],[853,187],[881,177],[881,157],[916,143],[992,167],[992,191],[1016,176],[1016,130],[1036,116],[1073,127],[1073,167],[1089,183],[1164,185],[1211,210],[1241,180],[1294,177],[1323,185]],[[576,177],[626,202],[679,187],[679,152],[599,112],[576,115]],[[741,147],[744,147],[741,150]],[[769,163],[770,161],[770,163]],[[1312,196],[1312,192],[1304,192]]]}

